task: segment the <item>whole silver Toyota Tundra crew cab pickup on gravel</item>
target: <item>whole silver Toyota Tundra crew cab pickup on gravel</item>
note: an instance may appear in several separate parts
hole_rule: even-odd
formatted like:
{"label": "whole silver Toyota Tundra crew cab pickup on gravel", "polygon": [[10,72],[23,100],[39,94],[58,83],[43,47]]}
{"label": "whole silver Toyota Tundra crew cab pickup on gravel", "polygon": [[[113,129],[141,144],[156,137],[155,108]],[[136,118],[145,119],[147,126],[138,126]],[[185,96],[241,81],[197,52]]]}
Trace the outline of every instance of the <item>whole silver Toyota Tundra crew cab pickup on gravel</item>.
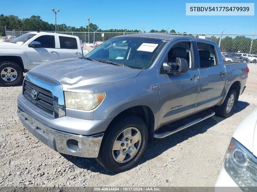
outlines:
{"label": "whole silver Toyota Tundra crew cab pickup on gravel", "polygon": [[[133,166],[153,138],[215,113],[231,116],[248,72],[245,63],[224,63],[214,41],[122,35],[82,59],[47,62],[29,71],[17,99],[18,116],[53,150],[96,158],[119,172]],[[190,121],[183,119],[188,116]],[[172,130],[160,131],[169,123]]]}

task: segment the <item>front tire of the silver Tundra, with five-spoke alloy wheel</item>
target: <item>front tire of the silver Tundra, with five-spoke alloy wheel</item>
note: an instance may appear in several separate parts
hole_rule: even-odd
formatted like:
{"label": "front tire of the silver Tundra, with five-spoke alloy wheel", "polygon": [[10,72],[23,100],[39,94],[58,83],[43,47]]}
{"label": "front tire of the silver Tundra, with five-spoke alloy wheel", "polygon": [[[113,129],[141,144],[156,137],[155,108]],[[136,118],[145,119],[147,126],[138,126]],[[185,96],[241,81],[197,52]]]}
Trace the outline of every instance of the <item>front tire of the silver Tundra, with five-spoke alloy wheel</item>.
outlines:
{"label": "front tire of the silver Tundra, with five-spoke alloy wheel", "polygon": [[[113,144],[114,144],[114,141],[116,141],[118,139],[119,139],[119,142],[120,142],[120,140],[123,141],[125,138],[119,138],[119,136],[124,137],[122,131],[127,130],[129,128],[132,128],[132,129],[136,128],[141,133],[141,142],[139,140],[137,143],[134,144],[136,147],[138,147],[138,150],[134,154],[133,157],[126,154],[126,157],[124,158],[124,162],[119,163],[116,161],[118,158],[116,160],[114,158],[118,157],[118,155],[122,152],[120,150],[113,150],[113,147],[114,147]],[[132,130],[132,133],[133,132],[134,132],[134,130]],[[135,133],[136,132],[134,132],[134,134]],[[132,135],[134,135],[134,134],[132,134]],[[133,137],[129,137],[129,138],[131,138],[131,140],[133,140]],[[126,142],[126,141],[124,141],[124,142]],[[126,147],[127,143],[124,145],[124,142],[123,142],[123,147]],[[131,143],[131,142],[129,142],[129,143]],[[139,143],[140,143],[140,146],[138,146]],[[115,123],[112,123],[111,129],[107,130],[106,133],[104,133],[104,137],[103,137],[101,147],[99,150],[99,155],[96,158],[96,161],[106,170],[109,170],[109,171],[115,172],[115,173],[129,169],[135,163],[137,163],[137,161],[140,159],[140,157],[142,156],[142,154],[145,151],[147,143],[148,143],[148,128],[147,128],[146,124],[138,116],[129,115],[125,118],[122,118],[122,119],[116,121]],[[119,144],[117,146],[119,146],[119,148],[120,148]],[[133,145],[133,143],[132,143],[132,145]],[[132,149],[132,145],[131,145],[130,150]],[[126,150],[126,149],[123,149],[123,150]],[[125,153],[126,152],[127,151],[125,151]],[[115,156],[115,154],[117,154],[117,156]],[[127,162],[125,162],[126,158],[128,159]]]}

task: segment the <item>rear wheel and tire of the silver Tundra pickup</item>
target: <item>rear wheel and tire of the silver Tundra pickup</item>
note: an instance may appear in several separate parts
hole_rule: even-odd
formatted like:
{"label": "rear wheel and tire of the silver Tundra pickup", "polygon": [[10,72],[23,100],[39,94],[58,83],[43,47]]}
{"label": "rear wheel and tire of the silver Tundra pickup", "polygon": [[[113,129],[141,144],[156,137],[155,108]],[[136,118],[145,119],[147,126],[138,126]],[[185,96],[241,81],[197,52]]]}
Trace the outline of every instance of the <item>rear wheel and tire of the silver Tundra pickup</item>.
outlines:
{"label": "rear wheel and tire of the silver Tundra pickup", "polygon": [[[228,102],[231,100],[230,97],[234,97],[234,100],[233,100],[233,104],[231,106],[231,109],[229,111],[227,111]],[[236,93],[235,89],[231,89],[227,93],[227,96],[226,96],[224,102],[222,103],[222,105],[216,106],[215,115],[219,116],[219,117],[223,117],[223,118],[230,117],[232,115],[232,112],[233,112],[233,109],[234,109],[234,106],[235,106],[235,103],[236,103],[236,99],[237,99],[237,93]]]}

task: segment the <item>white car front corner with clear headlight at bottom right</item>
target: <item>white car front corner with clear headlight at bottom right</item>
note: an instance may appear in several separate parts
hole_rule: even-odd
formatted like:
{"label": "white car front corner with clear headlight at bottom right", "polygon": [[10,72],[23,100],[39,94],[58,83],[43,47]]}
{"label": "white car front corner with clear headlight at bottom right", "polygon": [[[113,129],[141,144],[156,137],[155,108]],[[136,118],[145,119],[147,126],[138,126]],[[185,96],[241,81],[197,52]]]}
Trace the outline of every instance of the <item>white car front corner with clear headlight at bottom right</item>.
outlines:
{"label": "white car front corner with clear headlight at bottom right", "polygon": [[223,187],[237,187],[233,188],[234,191],[256,191],[256,122],[257,109],[248,115],[234,132],[215,184],[215,191],[223,191]]}

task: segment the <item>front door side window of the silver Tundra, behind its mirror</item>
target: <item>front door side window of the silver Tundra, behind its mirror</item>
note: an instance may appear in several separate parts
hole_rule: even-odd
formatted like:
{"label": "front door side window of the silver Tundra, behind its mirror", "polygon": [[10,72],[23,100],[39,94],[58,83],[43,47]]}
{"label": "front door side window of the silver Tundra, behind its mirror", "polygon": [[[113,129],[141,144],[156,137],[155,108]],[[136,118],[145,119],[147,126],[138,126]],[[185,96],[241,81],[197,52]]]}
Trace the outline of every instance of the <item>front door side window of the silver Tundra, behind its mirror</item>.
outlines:
{"label": "front door side window of the silver Tundra, behind its mirror", "polygon": [[183,58],[187,60],[188,69],[192,69],[192,51],[190,43],[175,44],[168,52],[168,62],[175,63],[176,58]]}

